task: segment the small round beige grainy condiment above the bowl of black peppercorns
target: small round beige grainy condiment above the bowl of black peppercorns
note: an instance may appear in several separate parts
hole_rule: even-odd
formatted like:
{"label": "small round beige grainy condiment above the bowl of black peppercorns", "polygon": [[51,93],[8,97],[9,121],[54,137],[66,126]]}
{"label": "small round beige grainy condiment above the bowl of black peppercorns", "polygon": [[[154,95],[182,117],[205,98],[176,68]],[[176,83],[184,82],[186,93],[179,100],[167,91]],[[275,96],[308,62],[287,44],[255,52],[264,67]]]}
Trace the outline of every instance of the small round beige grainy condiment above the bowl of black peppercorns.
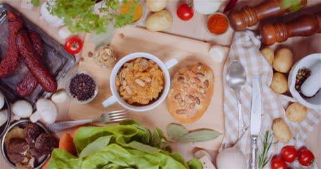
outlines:
{"label": "small round beige grainy condiment above the bowl of black peppercorns", "polygon": [[100,47],[93,55],[93,60],[102,68],[112,68],[117,61],[117,55],[109,46]]}

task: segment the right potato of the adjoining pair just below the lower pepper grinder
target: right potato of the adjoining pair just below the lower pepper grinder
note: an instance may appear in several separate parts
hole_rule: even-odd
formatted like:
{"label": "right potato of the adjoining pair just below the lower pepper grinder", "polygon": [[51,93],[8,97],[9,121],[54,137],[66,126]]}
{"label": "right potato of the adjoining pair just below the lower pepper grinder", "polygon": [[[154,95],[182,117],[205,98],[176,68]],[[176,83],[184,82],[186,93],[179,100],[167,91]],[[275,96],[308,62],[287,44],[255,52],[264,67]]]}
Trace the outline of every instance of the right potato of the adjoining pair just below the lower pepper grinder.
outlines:
{"label": "right potato of the adjoining pair just below the lower pepper grinder", "polygon": [[294,63],[294,57],[292,51],[283,48],[276,51],[273,68],[281,73],[289,73]]}

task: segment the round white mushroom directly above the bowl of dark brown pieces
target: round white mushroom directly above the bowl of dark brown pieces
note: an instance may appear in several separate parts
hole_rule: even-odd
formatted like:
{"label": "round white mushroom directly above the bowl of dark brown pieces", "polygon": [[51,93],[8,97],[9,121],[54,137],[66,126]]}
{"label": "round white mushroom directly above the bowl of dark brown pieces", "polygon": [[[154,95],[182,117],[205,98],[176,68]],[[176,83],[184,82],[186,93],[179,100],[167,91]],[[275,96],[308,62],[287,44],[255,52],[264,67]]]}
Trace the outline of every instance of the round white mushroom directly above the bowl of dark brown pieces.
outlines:
{"label": "round white mushroom directly above the bowl of dark brown pieces", "polygon": [[12,112],[19,118],[27,118],[32,114],[33,109],[29,102],[21,100],[16,101],[16,103],[12,105]]}

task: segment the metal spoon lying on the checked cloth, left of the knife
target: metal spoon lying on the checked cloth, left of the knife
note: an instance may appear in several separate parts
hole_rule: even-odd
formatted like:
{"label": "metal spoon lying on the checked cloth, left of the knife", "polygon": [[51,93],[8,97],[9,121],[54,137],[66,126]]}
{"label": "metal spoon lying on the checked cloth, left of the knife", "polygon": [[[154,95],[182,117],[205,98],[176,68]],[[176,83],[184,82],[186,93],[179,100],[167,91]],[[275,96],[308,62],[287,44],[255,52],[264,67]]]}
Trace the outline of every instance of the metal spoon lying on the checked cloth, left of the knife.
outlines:
{"label": "metal spoon lying on the checked cloth, left of the knife", "polygon": [[246,83],[246,71],[242,66],[241,62],[235,60],[230,63],[228,66],[228,70],[226,72],[226,82],[228,86],[234,90],[237,96],[237,107],[239,109],[239,136],[238,139],[241,138],[243,133],[246,131],[243,122],[243,114],[242,114],[242,107],[241,107],[241,99],[239,93],[243,88],[244,84]]}

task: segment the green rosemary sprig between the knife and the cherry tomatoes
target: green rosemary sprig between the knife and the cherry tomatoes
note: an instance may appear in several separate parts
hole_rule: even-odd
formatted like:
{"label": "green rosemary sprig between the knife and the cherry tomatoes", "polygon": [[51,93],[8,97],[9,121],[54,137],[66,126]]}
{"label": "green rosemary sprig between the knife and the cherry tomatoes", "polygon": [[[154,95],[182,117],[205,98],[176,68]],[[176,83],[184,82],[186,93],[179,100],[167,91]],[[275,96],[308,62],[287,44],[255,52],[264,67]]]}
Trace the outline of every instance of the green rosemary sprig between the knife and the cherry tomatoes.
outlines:
{"label": "green rosemary sprig between the knife and the cherry tomatoes", "polygon": [[272,155],[268,156],[272,142],[273,132],[266,131],[264,135],[263,152],[259,154],[259,169],[262,169],[266,164],[268,164],[268,162],[272,158]]}

